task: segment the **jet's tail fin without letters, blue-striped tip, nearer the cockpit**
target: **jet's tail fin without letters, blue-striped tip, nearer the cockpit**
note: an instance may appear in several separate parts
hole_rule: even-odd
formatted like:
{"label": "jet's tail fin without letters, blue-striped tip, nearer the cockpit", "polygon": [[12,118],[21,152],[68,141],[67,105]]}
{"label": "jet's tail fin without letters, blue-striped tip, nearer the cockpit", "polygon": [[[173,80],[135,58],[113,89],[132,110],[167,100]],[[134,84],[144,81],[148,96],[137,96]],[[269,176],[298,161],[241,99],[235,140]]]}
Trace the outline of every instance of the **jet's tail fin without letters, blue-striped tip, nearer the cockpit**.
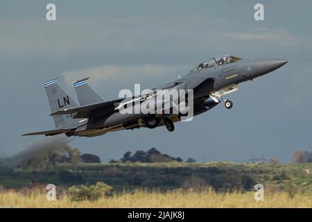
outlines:
{"label": "jet's tail fin without letters, blue-striped tip, nearer the cockpit", "polygon": [[89,78],[83,78],[73,82],[76,89],[79,105],[90,105],[93,103],[101,103],[105,100],[87,83]]}

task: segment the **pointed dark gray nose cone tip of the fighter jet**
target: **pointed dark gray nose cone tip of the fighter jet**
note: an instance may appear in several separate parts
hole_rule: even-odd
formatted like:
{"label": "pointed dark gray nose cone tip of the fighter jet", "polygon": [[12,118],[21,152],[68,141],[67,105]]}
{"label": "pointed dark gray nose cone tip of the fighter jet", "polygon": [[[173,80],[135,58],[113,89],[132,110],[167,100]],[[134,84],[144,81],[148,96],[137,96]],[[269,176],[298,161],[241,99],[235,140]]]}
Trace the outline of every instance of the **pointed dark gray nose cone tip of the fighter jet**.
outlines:
{"label": "pointed dark gray nose cone tip of the fighter jet", "polygon": [[257,67],[259,74],[268,74],[269,72],[282,67],[288,60],[279,59],[258,59],[254,60],[254,65]]}

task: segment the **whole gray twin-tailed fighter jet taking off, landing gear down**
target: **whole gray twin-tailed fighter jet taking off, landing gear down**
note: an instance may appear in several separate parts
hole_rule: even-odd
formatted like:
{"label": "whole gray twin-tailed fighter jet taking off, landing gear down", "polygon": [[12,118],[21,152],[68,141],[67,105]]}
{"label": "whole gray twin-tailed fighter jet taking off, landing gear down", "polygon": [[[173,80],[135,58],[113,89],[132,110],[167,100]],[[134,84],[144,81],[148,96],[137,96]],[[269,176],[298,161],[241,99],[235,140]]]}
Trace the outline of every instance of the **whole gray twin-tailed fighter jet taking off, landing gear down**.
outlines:
{"label": "whole gray twin-tailed fighter jet taking off, landing gear down", "polygon": [[[174,123],[181,121],[185,112],[122,113],[121,110],[129,108],[135,101],[142,104],[155,99],[156,92],[160,89],[184,89],[185,92],[192,90],[193,116],[207,112],[221,102],[224,102],[225,108],[231,109],[233,103],[225,99],[225,96],[239,89],[239,83],[268,74],[286,62],[288,61],[280,59],[215,56],[200,62],[187,75],[156,87],[150,94],[113,101],[105,101],[88,85],[88,78],[84,78],[73,82],[79,104],[62,90],[56,79],[49,80],[43,86],[48,96],[55,129],[24,135],[52,136],[64,133],[68,137],[94,137],[116,130],[159,126],[165,126],[172,132],[175,128]],[[164,103],[162,108],[163,106]]]}

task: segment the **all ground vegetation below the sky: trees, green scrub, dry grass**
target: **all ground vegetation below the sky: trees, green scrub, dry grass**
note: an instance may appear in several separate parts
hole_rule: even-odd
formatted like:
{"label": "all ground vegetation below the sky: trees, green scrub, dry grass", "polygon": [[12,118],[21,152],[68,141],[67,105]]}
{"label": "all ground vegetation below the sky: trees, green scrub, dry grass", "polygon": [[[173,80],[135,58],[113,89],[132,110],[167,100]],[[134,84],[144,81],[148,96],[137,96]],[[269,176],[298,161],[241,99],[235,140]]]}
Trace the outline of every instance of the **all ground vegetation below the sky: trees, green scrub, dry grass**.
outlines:
{"label": "all ground vegetation below the sky: trees, green scrub, dry grass", "polygon": [[[36,153],[38,152],[38,153]],[[34,155],[35,153],[35,155]],[[209,162],[160,153],[125,153],[108,164],[76,148],[24,153],[17,167],[0,166],[0,206],[5,207],[311,207],[311,153],[296,151],[293,163]],[[139,162],[138,162],[139,160]],[[254,185],[265,200],[254,200]],[[58,200],[45,199],[54,184]]]}

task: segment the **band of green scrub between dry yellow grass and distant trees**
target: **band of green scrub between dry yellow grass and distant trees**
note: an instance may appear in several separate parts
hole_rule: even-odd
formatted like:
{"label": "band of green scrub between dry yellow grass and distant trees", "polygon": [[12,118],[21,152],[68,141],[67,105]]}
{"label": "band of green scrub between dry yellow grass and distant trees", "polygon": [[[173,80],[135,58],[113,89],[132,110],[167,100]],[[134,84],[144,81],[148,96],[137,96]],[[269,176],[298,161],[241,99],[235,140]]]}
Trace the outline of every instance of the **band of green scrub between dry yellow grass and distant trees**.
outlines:
{"label": "band of green scrub between dry yellow grass and distant trees", "polygon": [[[0,185],[6,189],[55,184],[61,187],[94,185],[101,181],[114,191],[141,187],[162,190],[212,187],[215,191],[250,191],[261,183],[265,187],[286,190],[288,184],[299,191],[311,191],[312,163],[235,164],[232,162],[117,162],[114,164],[55,164],[53,169],[0,171]],[[30,185],[32,182],[32,185]]]}

